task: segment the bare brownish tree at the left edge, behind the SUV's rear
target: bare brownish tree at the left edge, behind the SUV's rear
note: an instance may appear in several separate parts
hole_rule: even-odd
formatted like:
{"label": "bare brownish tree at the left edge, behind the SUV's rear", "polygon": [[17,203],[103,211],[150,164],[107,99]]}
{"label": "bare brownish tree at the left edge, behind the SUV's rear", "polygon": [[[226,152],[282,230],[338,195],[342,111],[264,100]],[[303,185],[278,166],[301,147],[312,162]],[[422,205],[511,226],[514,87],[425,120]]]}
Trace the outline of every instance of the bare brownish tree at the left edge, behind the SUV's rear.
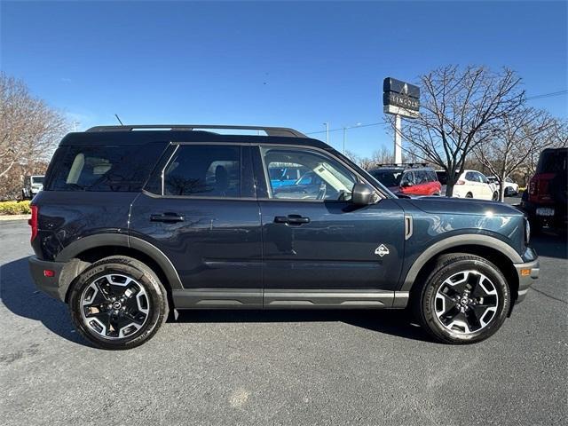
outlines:
{"label": "bare brownish tree at the left edge, behind the SUV's rear", "polygon": [[[14,166],[49,160],[67,131],[63,114],[36,99],[20,80],[0,73],[0,185]],[[21,178],[21,177],[20,177]],[[20,185],[20,183],[13,183]],[[4,189],[5,191],[5,189]],[[6,194],[0,194],[4,198]]]}

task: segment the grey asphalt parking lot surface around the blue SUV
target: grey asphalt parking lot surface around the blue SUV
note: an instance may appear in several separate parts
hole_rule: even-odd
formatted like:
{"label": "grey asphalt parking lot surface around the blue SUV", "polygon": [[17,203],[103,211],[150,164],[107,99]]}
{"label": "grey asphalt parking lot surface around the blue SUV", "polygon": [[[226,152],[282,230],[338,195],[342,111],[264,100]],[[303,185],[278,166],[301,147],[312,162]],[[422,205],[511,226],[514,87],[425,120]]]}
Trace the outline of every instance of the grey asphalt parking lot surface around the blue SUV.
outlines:
{"label": "grey asphalt parking lot surface around the blue SUV", "polygon": [[568,253],[501,330],[432,343],[405,312],[185,312],[145,345],[101,351],[28,275],[25,221],[0,222],[0,423],[566,424]]}

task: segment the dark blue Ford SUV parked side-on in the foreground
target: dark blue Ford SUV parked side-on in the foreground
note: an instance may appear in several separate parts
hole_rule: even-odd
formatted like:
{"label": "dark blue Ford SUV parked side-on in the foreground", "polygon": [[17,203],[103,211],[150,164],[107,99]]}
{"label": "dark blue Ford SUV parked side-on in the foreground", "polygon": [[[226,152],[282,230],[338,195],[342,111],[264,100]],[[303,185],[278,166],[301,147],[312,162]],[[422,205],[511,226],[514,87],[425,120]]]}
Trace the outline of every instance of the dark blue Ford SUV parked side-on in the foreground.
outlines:
{"label": "dark blue Ford SUV parked side-on in the foreground", "polygon": [[[296,130],[204,131],[227,127],[98,127],[61,141],[32,202],[29,263],[92,343],[137,346],[180,309],[408,304],[438,341],[472,343],[538,276],[517,209],[398,199]],[[273,185],[283,168],[310,175]]]}

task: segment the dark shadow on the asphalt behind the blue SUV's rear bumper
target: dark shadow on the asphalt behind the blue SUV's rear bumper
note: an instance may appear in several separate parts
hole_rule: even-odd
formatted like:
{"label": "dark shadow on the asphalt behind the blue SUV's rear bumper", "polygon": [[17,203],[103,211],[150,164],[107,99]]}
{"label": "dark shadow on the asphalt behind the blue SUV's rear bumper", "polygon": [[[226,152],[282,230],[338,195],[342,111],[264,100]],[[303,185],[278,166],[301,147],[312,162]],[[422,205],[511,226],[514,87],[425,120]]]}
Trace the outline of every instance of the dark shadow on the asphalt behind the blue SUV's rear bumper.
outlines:
{"label": "dark shadow on the asphalt behind the blue SUV's rear bumper", "polygon": [[41,321],[56,335],[75,343],[91,346],[75,331],[67,305],[36,288],[28,270],[28,257],[0,267],[0,297],[8,310],[20,317]]}

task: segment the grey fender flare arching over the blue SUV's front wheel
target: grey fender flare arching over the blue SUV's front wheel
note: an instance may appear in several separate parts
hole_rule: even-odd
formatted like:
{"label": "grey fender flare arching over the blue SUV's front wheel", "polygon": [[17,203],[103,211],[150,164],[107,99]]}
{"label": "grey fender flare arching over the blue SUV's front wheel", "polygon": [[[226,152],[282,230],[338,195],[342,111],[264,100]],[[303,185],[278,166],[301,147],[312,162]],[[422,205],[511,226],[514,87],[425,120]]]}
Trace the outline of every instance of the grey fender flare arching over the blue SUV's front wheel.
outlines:
{"label": "grey fender flare arching over the blue SUV's front wheel", "polygon": [[426,248],[420,256],[418,256],[418,258],[414,261],[414,264],[412,264],[408,272],[406,272],[406,277],[402,282],[400,291],[410,291],[414,284],[414,280],[416,280],[416,277],[418,276],[418,272],[420,272],[422,267],[427,264],[430,259],[438,255],[438,253],[447,250],[448,248],[464,245],[495,248],[499,250],[503,255],[509,257],[509,260],[513,264],[522,264],[524,262],[514,248],[509,246],[509,244],[507,244],[506,242],[503,242],[495,237],[472,234],[454,235],[432,244],[429,248]]}

